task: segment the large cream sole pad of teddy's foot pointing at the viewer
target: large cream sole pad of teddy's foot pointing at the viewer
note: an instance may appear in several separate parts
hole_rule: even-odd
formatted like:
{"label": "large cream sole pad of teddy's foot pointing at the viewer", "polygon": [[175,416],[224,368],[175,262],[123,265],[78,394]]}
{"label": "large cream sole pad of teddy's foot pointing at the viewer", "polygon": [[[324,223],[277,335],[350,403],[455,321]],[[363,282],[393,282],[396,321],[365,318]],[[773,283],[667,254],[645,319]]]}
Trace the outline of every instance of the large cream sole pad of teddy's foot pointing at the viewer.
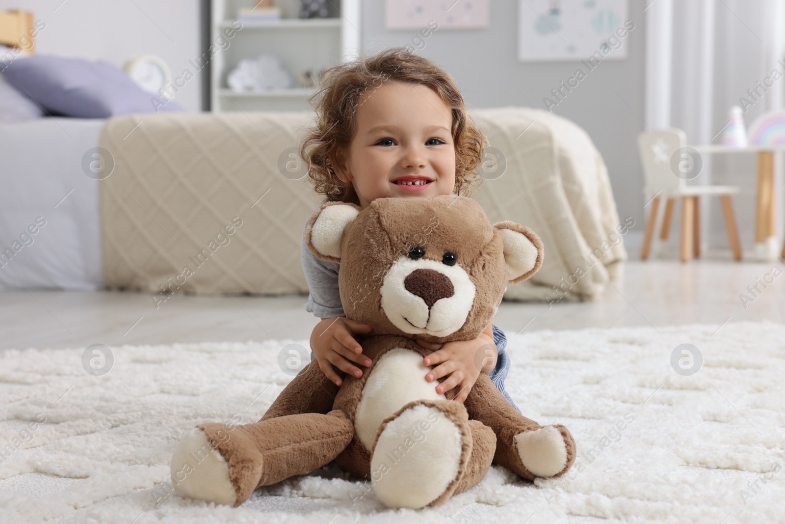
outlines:
{"label": "large cream sole pad of teddy's foot pointing at the viewer", "polygon": [[423,508],[454,489],[464,428],[434,405],[387,419],[371,456],[371,485],[389,508]]}

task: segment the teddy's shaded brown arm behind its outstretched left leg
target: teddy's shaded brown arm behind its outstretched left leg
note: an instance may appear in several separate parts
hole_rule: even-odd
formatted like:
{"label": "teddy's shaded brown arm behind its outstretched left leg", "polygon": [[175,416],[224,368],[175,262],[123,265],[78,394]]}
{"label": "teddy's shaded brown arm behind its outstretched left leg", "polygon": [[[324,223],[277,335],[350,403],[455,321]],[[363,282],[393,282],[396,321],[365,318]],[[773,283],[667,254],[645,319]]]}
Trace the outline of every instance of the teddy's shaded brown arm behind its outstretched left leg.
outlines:
{"label": "teddy's shaded brown arm behind its outstretched left leg", "polygon": [[261,420],[298,413],[327,413],[333,409],[336,386],[313,359],[283,388]]}

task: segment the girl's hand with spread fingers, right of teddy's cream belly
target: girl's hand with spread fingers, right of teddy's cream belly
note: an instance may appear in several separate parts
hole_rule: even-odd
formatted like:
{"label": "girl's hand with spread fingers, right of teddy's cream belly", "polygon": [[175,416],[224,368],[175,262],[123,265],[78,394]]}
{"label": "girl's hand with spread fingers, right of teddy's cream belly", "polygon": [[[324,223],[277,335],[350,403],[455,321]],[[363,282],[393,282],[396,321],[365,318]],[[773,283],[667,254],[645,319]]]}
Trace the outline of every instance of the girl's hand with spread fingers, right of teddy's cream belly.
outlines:
{"label": "girl's hand with spread fingers, right of teddy's cream belly", "polygon": [[428,343],[422,339],[414,339],[418,346],[433,350],[432,354],[423,358],[426,366],[436,365],[425,375],[425,380],[433,382],[448,376],[444,382],[436,386],[436,393],[444,393],[458,386],[458,394],[453,400],[463,402],[469,391],[480,376],[480,372],[489,373],[496,366],[496,346],[493,337],[485,333],[473,340],[460,340],[444,344]]}

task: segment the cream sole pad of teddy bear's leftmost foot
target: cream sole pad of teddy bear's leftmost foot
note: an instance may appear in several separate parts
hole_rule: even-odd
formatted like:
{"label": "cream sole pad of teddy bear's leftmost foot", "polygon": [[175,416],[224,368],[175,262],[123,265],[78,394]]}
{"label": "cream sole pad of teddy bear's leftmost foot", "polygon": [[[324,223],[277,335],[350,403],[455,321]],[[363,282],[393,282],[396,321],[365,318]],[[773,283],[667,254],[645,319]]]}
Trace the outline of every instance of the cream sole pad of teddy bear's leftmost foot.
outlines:
{"label": "cream sole pad of teddy bear's leftmost foot", "polygon": [[188,431],[172,454],[172,483],[181,497],[235,504],[229,465],[198,427]]}

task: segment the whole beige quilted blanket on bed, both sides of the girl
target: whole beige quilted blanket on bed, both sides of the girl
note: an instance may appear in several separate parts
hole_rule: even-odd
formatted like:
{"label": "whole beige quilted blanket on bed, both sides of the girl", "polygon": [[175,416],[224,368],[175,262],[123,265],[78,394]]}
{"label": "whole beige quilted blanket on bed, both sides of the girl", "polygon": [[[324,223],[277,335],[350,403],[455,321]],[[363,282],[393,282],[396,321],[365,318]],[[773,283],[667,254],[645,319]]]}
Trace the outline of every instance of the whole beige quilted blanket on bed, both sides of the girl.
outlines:
{"label": "whole beige quilted blanket on bed, both sides of the girl", "polygon": [[[473,197],[492,222],[530,225],[546,245],[540,272],[509,286],[505,297],[597,295],[608,280],[606,266],[626,253],[616,245],[599,251],[601,262],[593,266],[582,259],[619,225],[590,139],[567,120],[533,109],[474,116],[507,166],[501,176],[489,170]],[[100,182],[108,288],[149,292],[156,305],[179,291],[307,293],[301,233],[319,198],[287,152],[311,119],[309,112],[109,119],[100,141],[114,161]],[[580,264],[586,274],[570,279]],[[575,284],[565,286],[563,277]]]}

